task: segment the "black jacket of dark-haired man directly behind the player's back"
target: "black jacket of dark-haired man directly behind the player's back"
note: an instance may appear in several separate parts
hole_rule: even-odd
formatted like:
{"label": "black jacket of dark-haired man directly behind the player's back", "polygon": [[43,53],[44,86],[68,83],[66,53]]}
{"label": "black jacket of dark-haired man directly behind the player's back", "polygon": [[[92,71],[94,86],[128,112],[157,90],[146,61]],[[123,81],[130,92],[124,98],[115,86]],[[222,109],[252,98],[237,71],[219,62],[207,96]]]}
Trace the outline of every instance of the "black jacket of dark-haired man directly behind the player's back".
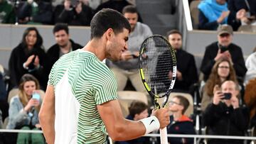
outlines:
{"label": "black jacket of dark-haired man directly behind the player's back", "polygon": [[[73,40],[70,40],[72,51],[78,50],[82,48],[82,45],[79,45],[78,43],[74,43]],[[46,68],[46,74],[47,76],[50,74],[50,70],[53,67],[54,63],[60,58],[60,47],[56,43],[55,45],[51,46],[48,51],[46,52],[47,55],[47,68]]]}

